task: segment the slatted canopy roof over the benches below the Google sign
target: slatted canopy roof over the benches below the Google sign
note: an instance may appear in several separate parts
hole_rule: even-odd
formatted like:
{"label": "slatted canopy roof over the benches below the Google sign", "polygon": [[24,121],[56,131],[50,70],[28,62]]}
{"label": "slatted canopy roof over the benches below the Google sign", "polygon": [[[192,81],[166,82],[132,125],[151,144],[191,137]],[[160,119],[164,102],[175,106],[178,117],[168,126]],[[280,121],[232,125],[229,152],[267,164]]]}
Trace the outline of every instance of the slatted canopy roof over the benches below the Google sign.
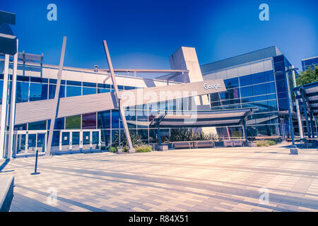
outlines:
{"label": "slatted canopy roof over the benches below the Google sign", "polygon": [[220,111],[165,112],[153,117],[150,126],[160,128],[242,125],[257,108]]}

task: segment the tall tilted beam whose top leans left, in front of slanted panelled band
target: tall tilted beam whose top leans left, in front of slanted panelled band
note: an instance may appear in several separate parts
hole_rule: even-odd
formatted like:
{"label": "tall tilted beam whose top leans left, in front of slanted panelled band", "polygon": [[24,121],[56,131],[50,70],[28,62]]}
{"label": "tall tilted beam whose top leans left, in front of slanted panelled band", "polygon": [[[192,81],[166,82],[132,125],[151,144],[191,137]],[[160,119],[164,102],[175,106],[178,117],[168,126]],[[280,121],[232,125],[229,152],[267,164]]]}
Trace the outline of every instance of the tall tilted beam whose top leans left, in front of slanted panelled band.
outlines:
{"label": "tall tilted beam whose top leans left, in front of slanted panelled band", "polygon": [[120,117],[122,118],[122,124],[124,126],[125,136],[126,136],[126,140],[127,140],[128,147],[129,147],[129,153],[134,153],[135,149],[131,143],[131,137],[130,137],[126,117],[124,114],[124,108],[120,104],[119,90],[118,90],[116,78],[114,76],[114,69],[112,68],[112,60],[110,59],[110,52],[108,50],[107,42],[105,40],[103,41],[103,44],[104,44],[104,48],[105,48],[105,54],[107,57],[107,63],[108,63],[108,66],[110,67],[110,76],[112,78],[112,85],[114,86],[114,91],[115,91],[114,93],[115,93],[115,97],[116,97],[117,106],[119,108],[119,114],[120,114]]}

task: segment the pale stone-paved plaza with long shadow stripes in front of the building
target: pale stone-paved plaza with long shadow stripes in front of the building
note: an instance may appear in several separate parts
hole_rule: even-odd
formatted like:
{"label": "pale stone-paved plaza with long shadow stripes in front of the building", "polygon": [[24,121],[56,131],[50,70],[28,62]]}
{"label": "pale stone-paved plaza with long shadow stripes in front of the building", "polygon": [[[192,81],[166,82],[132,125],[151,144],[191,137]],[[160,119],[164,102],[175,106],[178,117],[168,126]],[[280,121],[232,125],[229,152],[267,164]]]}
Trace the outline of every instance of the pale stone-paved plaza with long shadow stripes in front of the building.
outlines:
{"label": "pale stone-paved plaza with long shadow stripes in front of the building", "polygon": [[54,155],[30,175],[34,162],[0,162],[15,176],[11,211],[318,211],[317,149]]}

